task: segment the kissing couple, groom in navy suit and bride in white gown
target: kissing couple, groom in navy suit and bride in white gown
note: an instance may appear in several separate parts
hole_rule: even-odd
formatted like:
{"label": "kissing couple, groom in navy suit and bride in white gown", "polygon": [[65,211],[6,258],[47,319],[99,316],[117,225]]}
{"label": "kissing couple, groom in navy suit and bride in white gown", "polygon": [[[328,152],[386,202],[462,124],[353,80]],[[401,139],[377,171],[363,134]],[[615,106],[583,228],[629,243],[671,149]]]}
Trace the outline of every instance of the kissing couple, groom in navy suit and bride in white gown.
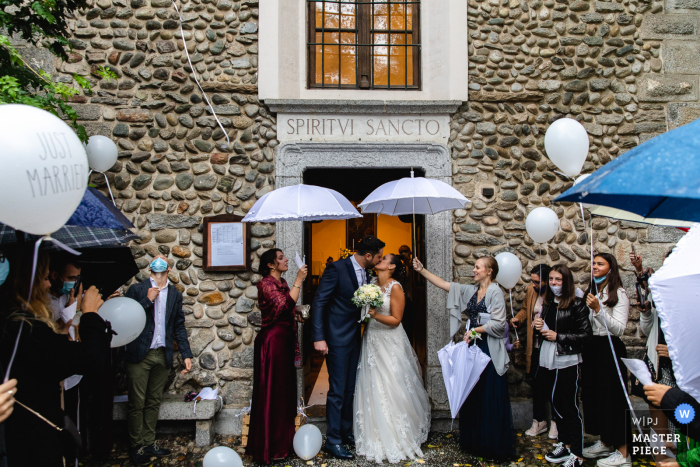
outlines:
{"label": "kissing couple, groom in navy suit and bride in white gown", "polygon": [[[384,255],[373,236],[355,254],[326,267],[312,305],[314,348],[326,355],[328,398],[324,451],[353,459],[346,446],[368,460],[396,463],[422,457],[430,430],[430,403],[421,369],[401,326],[405,295],[401,282],[407,265],[400,255]],[[355,291],[377,272],[383,303],[370,310],[360,331]]]}

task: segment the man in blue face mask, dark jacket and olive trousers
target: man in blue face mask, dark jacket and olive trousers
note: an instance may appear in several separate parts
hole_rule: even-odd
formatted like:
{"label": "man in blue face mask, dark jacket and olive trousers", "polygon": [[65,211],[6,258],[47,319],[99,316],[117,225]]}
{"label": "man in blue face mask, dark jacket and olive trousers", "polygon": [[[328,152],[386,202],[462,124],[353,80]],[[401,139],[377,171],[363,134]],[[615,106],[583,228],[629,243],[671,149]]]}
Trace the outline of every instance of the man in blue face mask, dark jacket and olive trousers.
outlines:
{"label": "man in blue face mask, dark jacket and olive trousers", "polygon": [[126,291],[126,297],[139,302],[146,312],[146,326],[124,351],[129,391],[129,457],[136,465],[148,463],[152,456],[170,455],[170,450],[159,446],[156,441],[156,424],[168,373],[173,366],[174,341],[177,341],[184,360],[182,373],[192,369],[182,294],[168,280],[170,265],[165,256],[153,258],[150,270],[148,280],[134,284]]}

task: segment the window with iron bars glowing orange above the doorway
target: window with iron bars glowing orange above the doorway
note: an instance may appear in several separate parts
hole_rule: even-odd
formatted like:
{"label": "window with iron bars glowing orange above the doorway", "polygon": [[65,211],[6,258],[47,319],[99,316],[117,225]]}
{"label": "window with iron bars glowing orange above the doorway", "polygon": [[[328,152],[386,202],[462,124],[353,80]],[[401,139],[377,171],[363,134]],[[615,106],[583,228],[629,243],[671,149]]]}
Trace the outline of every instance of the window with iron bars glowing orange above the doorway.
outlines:
{"label": "window with iron bars glowing orange above the doorway", "polygon": [[309,88],[420,89],[419,0],[307,4]]}

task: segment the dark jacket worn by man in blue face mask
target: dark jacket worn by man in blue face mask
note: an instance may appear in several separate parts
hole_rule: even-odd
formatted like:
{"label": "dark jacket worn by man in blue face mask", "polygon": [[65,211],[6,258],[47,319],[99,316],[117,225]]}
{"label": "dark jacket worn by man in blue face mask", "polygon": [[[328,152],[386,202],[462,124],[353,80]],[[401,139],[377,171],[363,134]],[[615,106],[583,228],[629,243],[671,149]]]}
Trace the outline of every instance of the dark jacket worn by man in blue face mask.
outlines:
{"label": "dark jacket worn by man in blue face mask", "polygon": [[[151,348],[153,331],[156,328],[156,321],[153,316],[153,302],[148,299],[148,289],[151,288],[149,279],[134,284],[126,291],[126,296],[139,302],[146,310],[146,327],[135,341],[127,344],[124,352],[124,360],[129,363],[138,363],[146,358],[148,350]],[[177,291],[174,285],[168,285],[168,302],[165,305],[165,363],[168,368],[173,366],[173,337],[177,340],[182,358],[192,358],[190,342],[187,340],[187,330],[185,329],[185,314],[182,312],[182,294]]]}

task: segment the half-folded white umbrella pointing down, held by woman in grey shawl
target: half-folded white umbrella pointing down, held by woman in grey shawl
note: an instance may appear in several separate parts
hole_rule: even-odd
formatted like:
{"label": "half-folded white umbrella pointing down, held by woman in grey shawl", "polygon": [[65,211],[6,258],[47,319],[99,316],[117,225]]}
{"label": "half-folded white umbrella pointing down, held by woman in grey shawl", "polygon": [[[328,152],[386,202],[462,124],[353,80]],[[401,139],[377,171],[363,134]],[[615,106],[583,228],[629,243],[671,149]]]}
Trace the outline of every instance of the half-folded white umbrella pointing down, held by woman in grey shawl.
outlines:
{"label": "half-folded white umbrella pointing down, held by woman in grey shawl", "polygon": [[491,357],[476,345],[469,347],[466,342],[450,342],[438,351],[438,359],[442,367],[447,399],[450,402],[450,413],[454,419]]}

